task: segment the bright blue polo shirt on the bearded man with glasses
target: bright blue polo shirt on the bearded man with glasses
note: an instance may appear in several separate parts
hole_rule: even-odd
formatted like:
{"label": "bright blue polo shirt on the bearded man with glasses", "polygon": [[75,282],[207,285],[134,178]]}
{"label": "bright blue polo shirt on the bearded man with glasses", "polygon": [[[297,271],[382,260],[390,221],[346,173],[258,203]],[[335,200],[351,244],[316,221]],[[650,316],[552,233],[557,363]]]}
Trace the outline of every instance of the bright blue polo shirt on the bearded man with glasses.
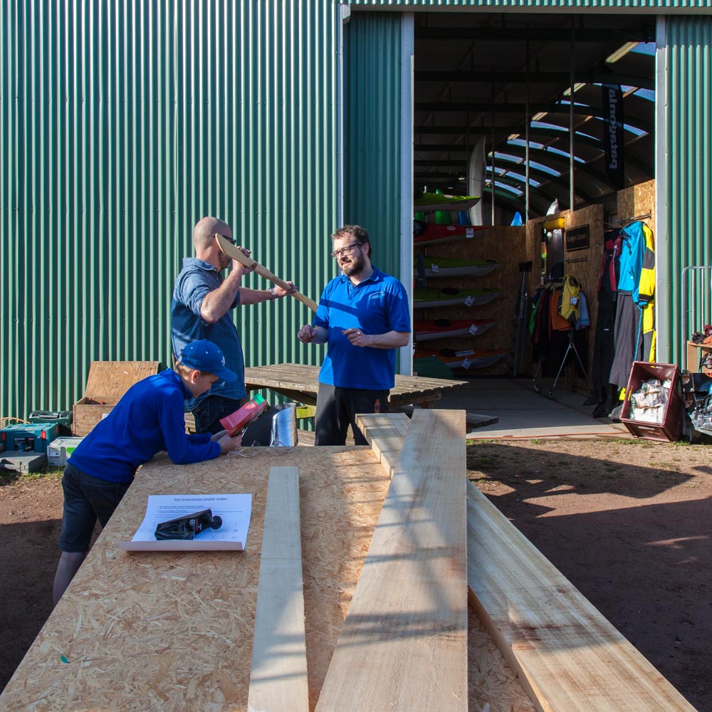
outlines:
{"label": "bright blue polo shirt on the bearded man with glasses", "polygon": [[408,296],[403,285],[378,268],[354,285],[342,274],[324,288],[314,325],[328,330],[328,349],[319,380],[340,388],[388,390],[395,383],[396,350],[353,346],[345,329],[365,334],[410,333]]}

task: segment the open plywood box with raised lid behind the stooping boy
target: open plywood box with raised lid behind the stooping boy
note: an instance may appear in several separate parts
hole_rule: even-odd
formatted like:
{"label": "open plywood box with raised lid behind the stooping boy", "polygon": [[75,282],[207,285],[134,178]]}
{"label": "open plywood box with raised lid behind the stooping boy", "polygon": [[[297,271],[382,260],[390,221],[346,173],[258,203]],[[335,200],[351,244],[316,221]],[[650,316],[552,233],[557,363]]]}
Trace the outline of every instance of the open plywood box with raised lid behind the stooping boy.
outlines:
{"label": "open plywood box with raised lid behind the stooping boy", "polygon": [[133,384],[160,370],[159,361],[92,361],[84,397],[72,408],[72,434],[88,435]]}

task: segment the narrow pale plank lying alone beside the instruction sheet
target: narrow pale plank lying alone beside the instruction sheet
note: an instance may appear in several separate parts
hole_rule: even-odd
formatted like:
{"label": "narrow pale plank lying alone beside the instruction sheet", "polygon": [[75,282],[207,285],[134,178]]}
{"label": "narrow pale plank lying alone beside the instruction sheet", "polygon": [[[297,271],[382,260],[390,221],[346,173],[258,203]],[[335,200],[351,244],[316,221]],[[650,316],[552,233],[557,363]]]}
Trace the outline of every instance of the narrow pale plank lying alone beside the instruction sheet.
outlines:
{"label": "narrow pale plank lying alone beside the instruction sheet", "polygon": [[249,712],[308,712],[299,472],[270,468],[257,587]]}

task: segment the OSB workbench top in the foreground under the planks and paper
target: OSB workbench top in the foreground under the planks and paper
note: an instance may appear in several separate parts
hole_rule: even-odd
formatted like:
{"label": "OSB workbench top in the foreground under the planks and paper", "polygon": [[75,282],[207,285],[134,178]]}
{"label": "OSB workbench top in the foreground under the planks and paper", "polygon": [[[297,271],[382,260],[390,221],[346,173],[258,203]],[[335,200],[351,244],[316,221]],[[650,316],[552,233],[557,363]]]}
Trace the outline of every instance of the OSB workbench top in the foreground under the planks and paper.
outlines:
{"label": "OSB workbench top in the foreground under the planks and paper", "polygon": [[[139,471],[0,696],[0,708],[246,710],[271,466],[296,466],[300,472],[314,708],[389,474],[368,447],[246,448],[244,453],[251,456],[183,466],[160,455]],[[165,493],[251,493],[246,550],[127,553],[117,548],[135,533],[147,496]],[[533,710],[474,614],[468,649],[471,709],[489,701],[492,712]]]}

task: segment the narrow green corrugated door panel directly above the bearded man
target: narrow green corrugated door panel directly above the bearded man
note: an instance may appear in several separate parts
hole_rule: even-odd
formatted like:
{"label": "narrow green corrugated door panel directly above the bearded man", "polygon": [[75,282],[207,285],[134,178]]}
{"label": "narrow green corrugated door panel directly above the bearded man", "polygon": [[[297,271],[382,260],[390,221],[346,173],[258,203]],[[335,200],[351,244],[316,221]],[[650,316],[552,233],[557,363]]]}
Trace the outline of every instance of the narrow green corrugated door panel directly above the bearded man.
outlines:
{"label": "narrow green corrugated door panel directly above the bearded man", "polygon": [[357,13],[344,32],[344,221],[364,226],[373,261],[400,273],[401,24]]}

